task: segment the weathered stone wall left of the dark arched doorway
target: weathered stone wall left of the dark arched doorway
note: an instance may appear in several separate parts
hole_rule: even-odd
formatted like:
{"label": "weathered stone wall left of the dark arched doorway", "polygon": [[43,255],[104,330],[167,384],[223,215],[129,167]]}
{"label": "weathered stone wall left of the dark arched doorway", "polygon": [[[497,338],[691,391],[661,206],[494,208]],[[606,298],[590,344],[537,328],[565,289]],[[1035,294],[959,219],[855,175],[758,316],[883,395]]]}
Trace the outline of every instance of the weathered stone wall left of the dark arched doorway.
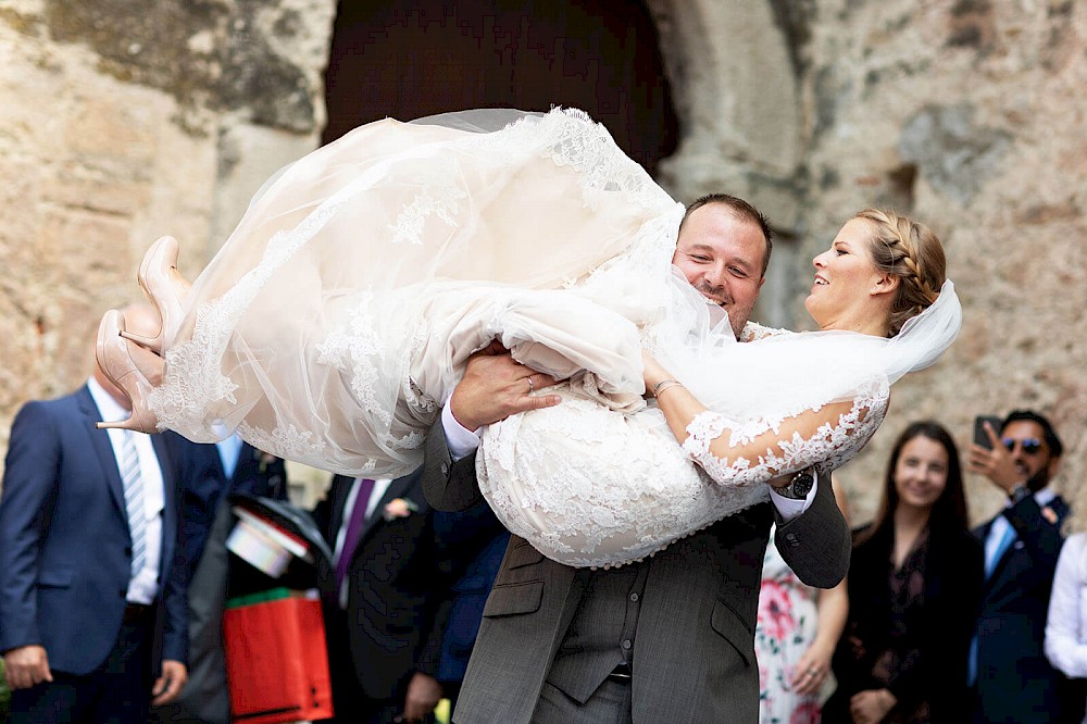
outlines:
{"label": "weathered stone wall left of the dark arched doorway", "polygon": [[86,379],[163,234],[192,275],[314,148],[334,0],[0,2],[0,448]]}

